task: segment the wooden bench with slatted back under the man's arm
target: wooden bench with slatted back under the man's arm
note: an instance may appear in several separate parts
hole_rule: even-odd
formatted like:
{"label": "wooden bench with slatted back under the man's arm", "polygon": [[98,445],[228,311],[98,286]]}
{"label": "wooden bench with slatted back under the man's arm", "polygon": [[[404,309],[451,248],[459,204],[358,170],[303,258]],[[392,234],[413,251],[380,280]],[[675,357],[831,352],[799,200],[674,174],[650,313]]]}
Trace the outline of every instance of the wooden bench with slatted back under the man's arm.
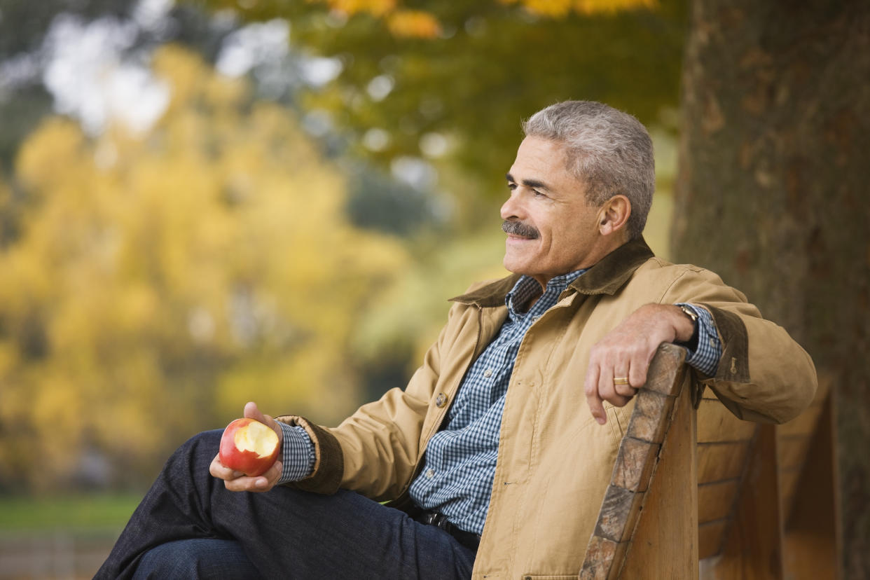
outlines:
{"label": "wooden bench with slatted back under the man's arm", "polygon": [[790,423],[749,423],[693,385],[685,356],[653,358],[579,577],[836,577],[826,385]]}

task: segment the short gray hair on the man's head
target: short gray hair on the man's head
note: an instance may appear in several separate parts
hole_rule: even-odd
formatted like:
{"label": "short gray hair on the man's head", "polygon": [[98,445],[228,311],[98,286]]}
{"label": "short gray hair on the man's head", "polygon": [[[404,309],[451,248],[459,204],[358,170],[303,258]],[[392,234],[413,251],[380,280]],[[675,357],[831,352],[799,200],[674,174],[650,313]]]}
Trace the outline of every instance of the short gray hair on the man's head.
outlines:
{"label": "short gray hair on the man's head", "polygon": [[526,137],[566,145],[568,170],[586,185],[586,201],[601,206],[622,194],[632,203],[629,238],[640,237],[653,204],[653,140],[628,113],[593,101],[564,101],[523,123]]}

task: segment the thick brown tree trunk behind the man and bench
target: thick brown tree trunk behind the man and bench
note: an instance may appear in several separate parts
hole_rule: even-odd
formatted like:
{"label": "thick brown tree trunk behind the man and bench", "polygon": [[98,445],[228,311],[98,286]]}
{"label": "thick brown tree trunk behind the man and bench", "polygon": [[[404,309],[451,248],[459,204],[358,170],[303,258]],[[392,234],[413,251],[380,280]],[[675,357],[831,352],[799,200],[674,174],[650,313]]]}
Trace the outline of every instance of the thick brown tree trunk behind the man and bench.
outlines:
{"label": "thick brown tree trunk behind the man and bench", "polygon": [[840,573],[870,577],[870,2],[695,0],[684,66],[672,255],[831,386]]}

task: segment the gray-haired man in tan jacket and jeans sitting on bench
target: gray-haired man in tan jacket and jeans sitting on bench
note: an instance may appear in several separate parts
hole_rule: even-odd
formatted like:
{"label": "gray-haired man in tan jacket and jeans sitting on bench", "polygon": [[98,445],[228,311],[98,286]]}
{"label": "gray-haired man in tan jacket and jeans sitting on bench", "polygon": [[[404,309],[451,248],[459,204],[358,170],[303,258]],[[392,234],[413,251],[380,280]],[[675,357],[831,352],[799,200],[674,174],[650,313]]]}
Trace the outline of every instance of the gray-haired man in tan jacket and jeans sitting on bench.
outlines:
{"label": "gray-haired man in tan jacket and jeans sitting on bench", "polygon": [[660,343],[738,417],[806,407],[813,363],[785,330],[644,243],[653,146],[634,117],[572,101],[524,130],[501,210],[514,274],[453,298],[405,390],[335,429],[248,403],[282,460],[244,477],[219,431],[194,437],[97,577],[573,577]]}

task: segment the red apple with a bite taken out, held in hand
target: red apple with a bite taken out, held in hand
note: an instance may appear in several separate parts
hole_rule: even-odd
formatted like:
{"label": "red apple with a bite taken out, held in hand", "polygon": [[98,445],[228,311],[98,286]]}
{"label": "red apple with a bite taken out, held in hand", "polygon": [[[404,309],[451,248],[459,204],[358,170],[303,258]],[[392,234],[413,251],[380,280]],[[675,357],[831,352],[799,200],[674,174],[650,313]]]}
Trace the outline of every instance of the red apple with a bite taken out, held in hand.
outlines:
{"label": "red apple with a bite taken out, held in hand", "polygon": [[236,419],[220,438],[220,463],[246,476],[263,475],[278,459],[278,435],[254,419]]}

